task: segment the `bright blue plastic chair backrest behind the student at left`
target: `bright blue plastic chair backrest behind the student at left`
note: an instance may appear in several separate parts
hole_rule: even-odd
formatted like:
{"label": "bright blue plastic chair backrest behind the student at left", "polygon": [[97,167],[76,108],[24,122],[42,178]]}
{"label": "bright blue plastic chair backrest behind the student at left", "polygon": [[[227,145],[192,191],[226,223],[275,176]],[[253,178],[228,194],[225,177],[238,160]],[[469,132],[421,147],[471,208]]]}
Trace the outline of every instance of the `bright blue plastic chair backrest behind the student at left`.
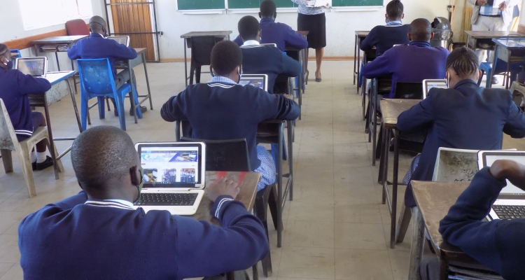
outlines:
{"label": "bright blue plastic chair backrest behind the student at left", "polygon": [[83,94],[87,94],[89,99],[97,96],[113,97],[116,87],[109,59],[77,59],[76,63]]}

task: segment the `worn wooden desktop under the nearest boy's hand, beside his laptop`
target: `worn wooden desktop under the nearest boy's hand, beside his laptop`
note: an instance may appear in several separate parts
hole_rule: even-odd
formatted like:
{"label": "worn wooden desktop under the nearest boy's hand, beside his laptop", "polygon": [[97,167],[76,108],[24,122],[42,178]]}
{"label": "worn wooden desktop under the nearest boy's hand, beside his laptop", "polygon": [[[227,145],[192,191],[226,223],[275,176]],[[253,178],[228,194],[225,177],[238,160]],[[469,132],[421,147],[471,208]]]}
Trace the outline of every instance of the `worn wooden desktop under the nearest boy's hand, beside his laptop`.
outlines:
{"label": "worn wooden desktop under the nearest boy's hand, beside his laptop", "polygon": [[204,197],[199,204],[197,213],[190,218],[194,218],[198,221],[208,221],[213,225],[221,225],[221,222],[217,218],[211,216],[209,211],[211,207],[214,206],[214,203],[208,199],[208,189],[210,186],[213,186],[216,181],[223,178],[223,176],[231,176],[232,179],[239,182],[239,188],[241,191],[235,200],[239,200],[244,204],[248,211],[253,209],[255,205],[255,197],[257,197],[257,184],[260,180],[259,172],[215,172],[208,171],[206,172],[206,188],[204,188]]}

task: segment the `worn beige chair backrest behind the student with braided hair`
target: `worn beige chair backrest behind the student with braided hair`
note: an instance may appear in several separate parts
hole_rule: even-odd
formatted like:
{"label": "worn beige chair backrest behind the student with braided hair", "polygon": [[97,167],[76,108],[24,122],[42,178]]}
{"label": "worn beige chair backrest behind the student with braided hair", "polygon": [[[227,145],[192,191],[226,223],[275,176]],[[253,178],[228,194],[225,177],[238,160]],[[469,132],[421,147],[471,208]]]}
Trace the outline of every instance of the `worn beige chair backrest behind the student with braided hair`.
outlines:
{"label": "worn beige chair backrest behind the student with braided hair", "polygon": [[477,152],[478,150],[440,147],[437,150],[432,181],[472,181],[472,178],[478,172]]}

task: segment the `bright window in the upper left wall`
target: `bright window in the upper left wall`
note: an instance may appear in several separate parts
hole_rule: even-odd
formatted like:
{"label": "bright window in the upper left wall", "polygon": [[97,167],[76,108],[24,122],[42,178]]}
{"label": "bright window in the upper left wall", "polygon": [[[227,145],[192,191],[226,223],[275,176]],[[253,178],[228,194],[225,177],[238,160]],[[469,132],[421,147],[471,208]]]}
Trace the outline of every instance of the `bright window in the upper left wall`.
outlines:
{"label": "bright window in the upper left wall", "polygon": [[93,15],[92,0],[18,0],[24,29],[60,25],[76,18]]}

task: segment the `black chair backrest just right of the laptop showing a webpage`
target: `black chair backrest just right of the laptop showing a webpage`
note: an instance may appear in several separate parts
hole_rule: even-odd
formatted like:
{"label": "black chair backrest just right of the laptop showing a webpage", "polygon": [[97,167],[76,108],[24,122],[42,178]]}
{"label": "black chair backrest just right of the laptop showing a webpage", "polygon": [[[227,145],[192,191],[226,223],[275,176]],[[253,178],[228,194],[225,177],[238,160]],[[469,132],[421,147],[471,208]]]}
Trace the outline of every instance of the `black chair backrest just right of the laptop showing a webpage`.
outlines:
{"label": "black chair backrest just right of the laptop showing a webpage", "polygon": [[246,139],[205,140],[181,137],[184,142],[206,144],[206,171],[249,172],[250,159]]}

